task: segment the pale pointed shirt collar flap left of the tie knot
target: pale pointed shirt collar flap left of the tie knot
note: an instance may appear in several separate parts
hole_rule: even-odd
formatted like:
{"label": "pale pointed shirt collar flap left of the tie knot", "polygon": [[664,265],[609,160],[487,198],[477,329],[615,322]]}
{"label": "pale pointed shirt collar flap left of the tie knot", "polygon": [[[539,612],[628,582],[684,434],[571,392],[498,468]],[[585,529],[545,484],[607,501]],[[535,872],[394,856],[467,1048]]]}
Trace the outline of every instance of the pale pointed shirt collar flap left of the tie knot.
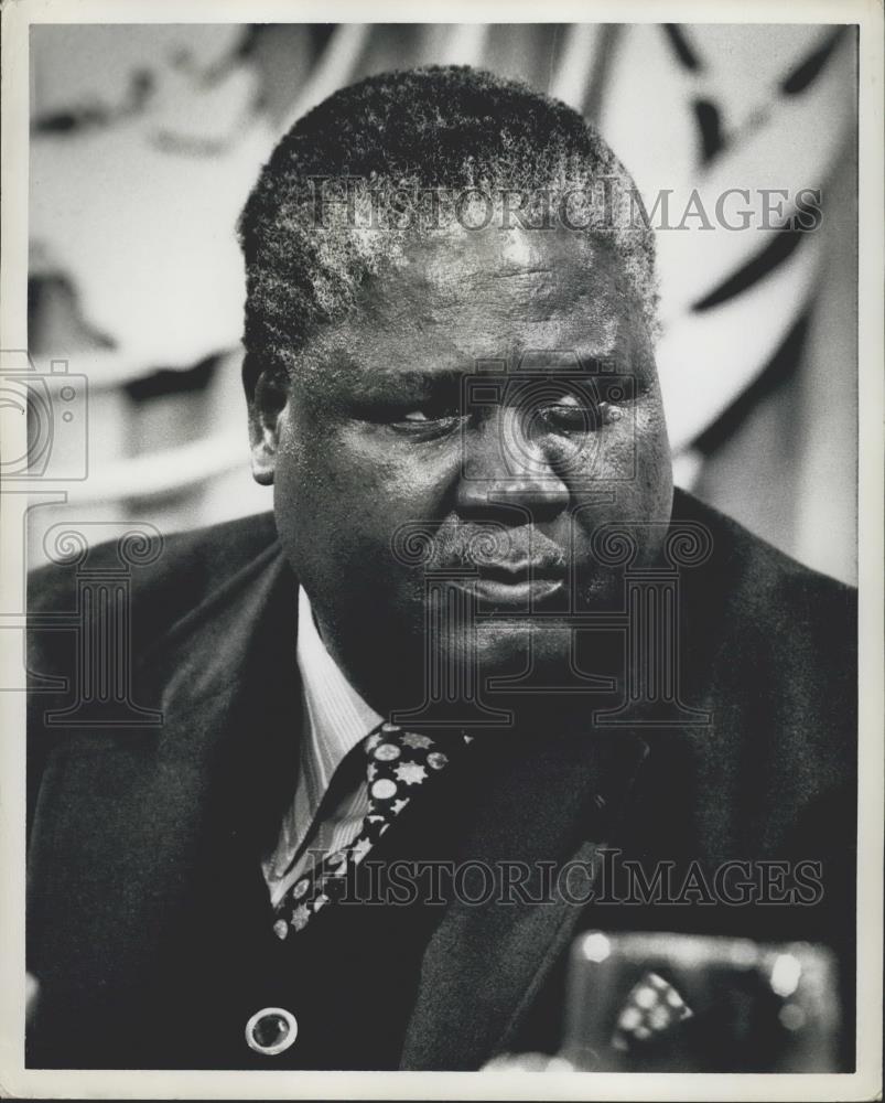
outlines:
{"label": "pale pointed shirt collar flap left of the tie knot", "polygon": [[384,717],[363,700],[330,655],[303,587],[299,587],[298,602],[298,665],[307,713],[304,738],[320,792],[325,792],[345,756]]}

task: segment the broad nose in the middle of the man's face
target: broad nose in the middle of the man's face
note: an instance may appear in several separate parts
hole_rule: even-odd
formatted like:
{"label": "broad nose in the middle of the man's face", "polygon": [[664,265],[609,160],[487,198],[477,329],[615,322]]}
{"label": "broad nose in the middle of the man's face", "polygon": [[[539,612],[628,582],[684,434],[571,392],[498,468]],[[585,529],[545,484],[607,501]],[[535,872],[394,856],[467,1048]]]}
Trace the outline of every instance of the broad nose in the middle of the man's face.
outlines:
{"label": "broad nose in the middle of the man's face", "polygon": [[569,504],[569,488],[555,467],[547,435],[530,411],[499,406],[462,438],[458,508],[488,516],[496,506],[549,518]]}

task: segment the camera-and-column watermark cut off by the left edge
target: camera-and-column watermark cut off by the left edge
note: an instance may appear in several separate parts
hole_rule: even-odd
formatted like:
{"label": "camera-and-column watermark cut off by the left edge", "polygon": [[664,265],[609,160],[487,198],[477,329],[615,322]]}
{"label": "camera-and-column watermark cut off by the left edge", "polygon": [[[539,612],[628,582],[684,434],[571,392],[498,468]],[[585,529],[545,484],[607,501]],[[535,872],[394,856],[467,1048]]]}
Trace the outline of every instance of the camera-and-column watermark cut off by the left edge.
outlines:
{"label": "camera-and-column watermark cut off by the left edge", "polygon": [[[64,576],[65,598],[51,609],[28,609],[28,528],[42,505],[65,505],[66,484],[83,482],[88,462],[89,387],[65,360],[39,367],[26,350],[0,352],[0,456],[9,576],[0,630],[14,633],[21,660],[7,673],[4,690],[53,694],[65,704],[47,707],[47,727],[153,727],[155,709],[133,699],[132,572],[155,561],[163,538],[144,523],[68,521],[43,533],[45,559]],[[73,661],[64,673],[29,665],[26,634],[43,644],[68,636]],[[37,660],[39,662],[39,660]]]}

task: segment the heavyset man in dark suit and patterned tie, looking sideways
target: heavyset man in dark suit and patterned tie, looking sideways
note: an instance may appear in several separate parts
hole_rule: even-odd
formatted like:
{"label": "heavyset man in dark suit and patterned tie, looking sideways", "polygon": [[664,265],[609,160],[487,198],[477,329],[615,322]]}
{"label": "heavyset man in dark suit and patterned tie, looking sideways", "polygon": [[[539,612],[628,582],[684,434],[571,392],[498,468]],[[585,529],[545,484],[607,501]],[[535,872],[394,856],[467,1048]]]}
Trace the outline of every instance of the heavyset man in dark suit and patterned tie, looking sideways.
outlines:
{"label": "heavyset man in dark suit and patterned tie, looking sideways", "polygon": [[821,942],[850,996],[853,595],[673,493],[652,242],[598,135],[468,68],[373,77],[240,235],[273,515],[134,568],[162,725],[47,722],[77,640],[35,621],[68,692],[32,698],[29,1062],[554,1052],[587,928]]}

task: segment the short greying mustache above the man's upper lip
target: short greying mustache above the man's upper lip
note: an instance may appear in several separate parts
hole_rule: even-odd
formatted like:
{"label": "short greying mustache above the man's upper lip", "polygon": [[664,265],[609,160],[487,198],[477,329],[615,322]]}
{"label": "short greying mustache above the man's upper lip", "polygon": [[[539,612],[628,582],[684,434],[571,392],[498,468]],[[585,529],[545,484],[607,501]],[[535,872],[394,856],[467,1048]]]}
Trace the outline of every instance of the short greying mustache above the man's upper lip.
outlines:
{"label": "short greying mustache above the man's upper lip", "polygon": [[532,524],[499,522],[408,522],[393,534],[397,563],[428,570],[500,568],[564,571],[565,552]]}

